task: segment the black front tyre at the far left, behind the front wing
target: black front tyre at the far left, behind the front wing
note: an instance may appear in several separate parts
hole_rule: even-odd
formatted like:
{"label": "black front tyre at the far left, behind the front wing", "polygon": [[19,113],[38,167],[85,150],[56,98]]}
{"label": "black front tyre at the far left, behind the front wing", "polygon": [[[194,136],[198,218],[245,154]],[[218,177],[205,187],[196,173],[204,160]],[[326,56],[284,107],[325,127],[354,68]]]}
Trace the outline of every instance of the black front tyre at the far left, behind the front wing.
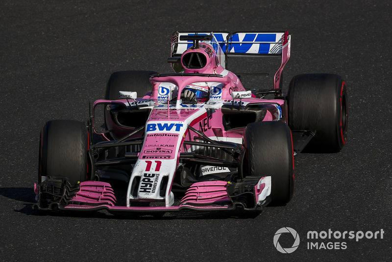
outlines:
{"label": "black front tyre at the far left, behind the front wing", "polygon": [[71,184],[89,180],[88,147],[84,123],[47,122],[41,130],[38,183],[48,176],[67,177]]}

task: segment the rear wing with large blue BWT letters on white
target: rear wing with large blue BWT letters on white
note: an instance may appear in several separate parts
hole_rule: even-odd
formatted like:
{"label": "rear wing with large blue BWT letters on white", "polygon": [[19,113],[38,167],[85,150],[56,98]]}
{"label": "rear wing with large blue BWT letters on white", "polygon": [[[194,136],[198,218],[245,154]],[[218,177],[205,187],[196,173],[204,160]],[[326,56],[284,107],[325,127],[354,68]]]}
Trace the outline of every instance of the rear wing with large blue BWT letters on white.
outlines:
{"label": "rear wing with large blue BWT letters on white", "polygon": [[212,35],[210,44],[218,54],[220,64],[227,68],[227,58],[238,55],[280,55],[281,65],[274,76],[274,89],[280,87],[282,70],[290,58],[291,35],[282,32],[179,32],[172,35],[171,57],[181,56],[193,42],[180,40],[182,35]]}

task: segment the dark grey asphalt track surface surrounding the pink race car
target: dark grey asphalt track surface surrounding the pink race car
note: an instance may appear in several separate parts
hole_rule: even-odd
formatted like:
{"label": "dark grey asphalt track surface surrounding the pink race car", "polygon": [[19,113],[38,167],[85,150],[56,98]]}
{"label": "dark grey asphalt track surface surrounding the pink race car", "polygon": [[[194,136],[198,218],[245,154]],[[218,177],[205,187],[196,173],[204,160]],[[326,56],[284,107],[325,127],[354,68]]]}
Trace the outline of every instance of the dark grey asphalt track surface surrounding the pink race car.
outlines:
{"label": "dark grey asphalt track surface surrounding the pink race car", "polygon": [[[390,261],[391,11],[386,0],[1,1],[0,260]],[[286,88],[303,73],[334,73],[347,83],[343,151],[296,157],[292,201],[258,215],[38,215],[32,187],[43,124],[86,120],[88,102],[103,97],[112,72],[170,72],[177,29],[289,30]],[[300,237],[291,254],[274,247],[282,227]],[[329,229],[384,234],[307,238]],[[293,242],[290,234],[279,238],[283,247]],[[310,242],[340,249],[309,249]]]}

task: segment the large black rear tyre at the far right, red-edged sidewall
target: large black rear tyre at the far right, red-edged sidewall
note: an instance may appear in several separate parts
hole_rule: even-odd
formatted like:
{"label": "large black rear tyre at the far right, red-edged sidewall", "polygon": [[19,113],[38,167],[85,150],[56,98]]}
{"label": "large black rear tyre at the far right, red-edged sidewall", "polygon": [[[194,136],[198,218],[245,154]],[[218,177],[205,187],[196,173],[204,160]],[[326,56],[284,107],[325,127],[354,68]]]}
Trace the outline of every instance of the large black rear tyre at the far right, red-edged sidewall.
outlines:
{"label": "large black rear tyre at the far right, red-edged sidewall", "polygon": [[316,131],[309,153],[335,153],[347,141],[348,100],[342,77],[332,74],[295,76],[288,91],[291,130]]}

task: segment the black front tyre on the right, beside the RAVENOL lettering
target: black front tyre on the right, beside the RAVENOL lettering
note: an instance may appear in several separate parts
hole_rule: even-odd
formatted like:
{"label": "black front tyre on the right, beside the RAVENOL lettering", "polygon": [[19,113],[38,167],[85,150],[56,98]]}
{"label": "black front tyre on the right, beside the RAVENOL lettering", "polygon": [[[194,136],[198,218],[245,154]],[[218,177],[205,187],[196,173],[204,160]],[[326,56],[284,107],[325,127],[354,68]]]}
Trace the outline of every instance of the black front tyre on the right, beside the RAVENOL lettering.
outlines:
{"label": "black front tyre on the right, beside the RAVENOL lettering", "polygon": [[256,122],[246,126],[247,175],[270,176],[271,205],[287,204],[294,191],[293,143],[283,122]]}

